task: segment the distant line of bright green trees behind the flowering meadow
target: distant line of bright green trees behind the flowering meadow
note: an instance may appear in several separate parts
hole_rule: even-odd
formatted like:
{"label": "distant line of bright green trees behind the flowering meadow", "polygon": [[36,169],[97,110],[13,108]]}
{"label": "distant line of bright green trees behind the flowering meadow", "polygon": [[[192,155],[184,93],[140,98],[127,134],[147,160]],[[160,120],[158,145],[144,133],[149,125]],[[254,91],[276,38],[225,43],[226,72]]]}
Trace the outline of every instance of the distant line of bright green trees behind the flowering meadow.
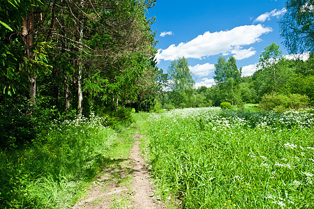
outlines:
{"label": "distant line of bright green trees behind the flowering meadow", "polygon": [[[164,91],[159,99],[160,106],[165,109],[219,106],[221,102],[243,107],[246,103],[260,103],[266,95],[294,95],[294,100],[302,100],[308,106],[314,104],[314,54],[306,61],[297,55],[295,59],[287,59],[279,46],[273,43],[260,55],[258,70],[246,77],[241,77],[241,68],[237,68],[234,57],[231,56],[227,61],[220,57],[215,65],[216,84],[210,88],[200,86],[197,89],[186,85],[186,82],[192,85],[193,79],[190,72],[184,70],[188,68],[187,62],[185,67],[177,64],[184,62],[186,59],[178,59],[168,68],[171,82],[165,85],[170,91]],[[172,69],[176,69],[176,73]],[[182,73],[184,71],[185,77]],[[186,87],[174,88],[179,84]]]}

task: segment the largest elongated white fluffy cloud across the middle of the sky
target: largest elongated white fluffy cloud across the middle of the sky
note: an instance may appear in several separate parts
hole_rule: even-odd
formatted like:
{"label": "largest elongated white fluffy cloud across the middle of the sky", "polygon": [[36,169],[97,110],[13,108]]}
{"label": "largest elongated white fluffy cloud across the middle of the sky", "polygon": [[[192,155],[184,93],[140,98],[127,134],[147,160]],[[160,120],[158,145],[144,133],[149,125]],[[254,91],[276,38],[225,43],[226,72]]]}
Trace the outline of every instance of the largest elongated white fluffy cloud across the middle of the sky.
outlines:
{"label": "largest elongated white fluffy cloud across the middle of the sky", "polygon": [[242,46],[252,45],[260,41],[260,36],[269,33],[271,28],[261,24],[238,26],[230,31],[205,32],[189,42],[170,45],[167,49],[158,49],[158,61],[173,61],[179,57],[202,59],[217,54],[234,54],[237,59],[248,58],[255,54],[253,47],[243,49]]}

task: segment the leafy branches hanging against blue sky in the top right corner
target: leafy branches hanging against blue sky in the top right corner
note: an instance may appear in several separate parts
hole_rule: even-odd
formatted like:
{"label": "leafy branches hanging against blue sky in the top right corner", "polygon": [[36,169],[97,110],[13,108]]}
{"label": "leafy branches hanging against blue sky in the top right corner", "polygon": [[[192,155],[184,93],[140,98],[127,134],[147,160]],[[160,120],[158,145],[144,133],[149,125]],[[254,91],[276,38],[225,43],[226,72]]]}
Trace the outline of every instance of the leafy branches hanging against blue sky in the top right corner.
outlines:
{"label": "leafy branches hanging against blue sky in the top right corner", "polygon": [[279,22],[281,36],[290,53],[311,52],[314,49],[314,1],[287,0],[287,13]]}

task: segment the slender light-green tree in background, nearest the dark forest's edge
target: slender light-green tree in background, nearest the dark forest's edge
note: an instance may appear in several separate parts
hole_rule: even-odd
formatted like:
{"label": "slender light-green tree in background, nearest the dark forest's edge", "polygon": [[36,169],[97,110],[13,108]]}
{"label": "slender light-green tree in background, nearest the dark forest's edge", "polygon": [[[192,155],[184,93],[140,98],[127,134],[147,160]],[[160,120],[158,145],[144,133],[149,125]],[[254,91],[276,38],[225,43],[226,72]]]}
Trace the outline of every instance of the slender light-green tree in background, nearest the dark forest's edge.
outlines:
{"label": "slender light-green tree in background, nearest the dark forest's edge", "polygon": [[169,75],[168,86],[172,91],[174,104],[177,107],[186,107],[195,84],[188,69],[188,61],[184,57],[176,59],[170,63],[167,70]]}

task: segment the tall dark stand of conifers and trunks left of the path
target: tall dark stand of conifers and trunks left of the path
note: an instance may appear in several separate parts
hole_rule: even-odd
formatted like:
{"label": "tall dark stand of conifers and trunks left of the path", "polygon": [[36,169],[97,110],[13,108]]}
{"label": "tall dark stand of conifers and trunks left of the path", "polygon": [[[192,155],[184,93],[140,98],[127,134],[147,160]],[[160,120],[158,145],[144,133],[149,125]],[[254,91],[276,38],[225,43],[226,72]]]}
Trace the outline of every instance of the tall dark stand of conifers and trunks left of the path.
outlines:
{"label": "tall dark stand of conifers and trunks left of the path", "polygon": [[1,1],[0,146],[31,141],[53,119],[149,109],[160,88],[145,16],[154,3]]}

